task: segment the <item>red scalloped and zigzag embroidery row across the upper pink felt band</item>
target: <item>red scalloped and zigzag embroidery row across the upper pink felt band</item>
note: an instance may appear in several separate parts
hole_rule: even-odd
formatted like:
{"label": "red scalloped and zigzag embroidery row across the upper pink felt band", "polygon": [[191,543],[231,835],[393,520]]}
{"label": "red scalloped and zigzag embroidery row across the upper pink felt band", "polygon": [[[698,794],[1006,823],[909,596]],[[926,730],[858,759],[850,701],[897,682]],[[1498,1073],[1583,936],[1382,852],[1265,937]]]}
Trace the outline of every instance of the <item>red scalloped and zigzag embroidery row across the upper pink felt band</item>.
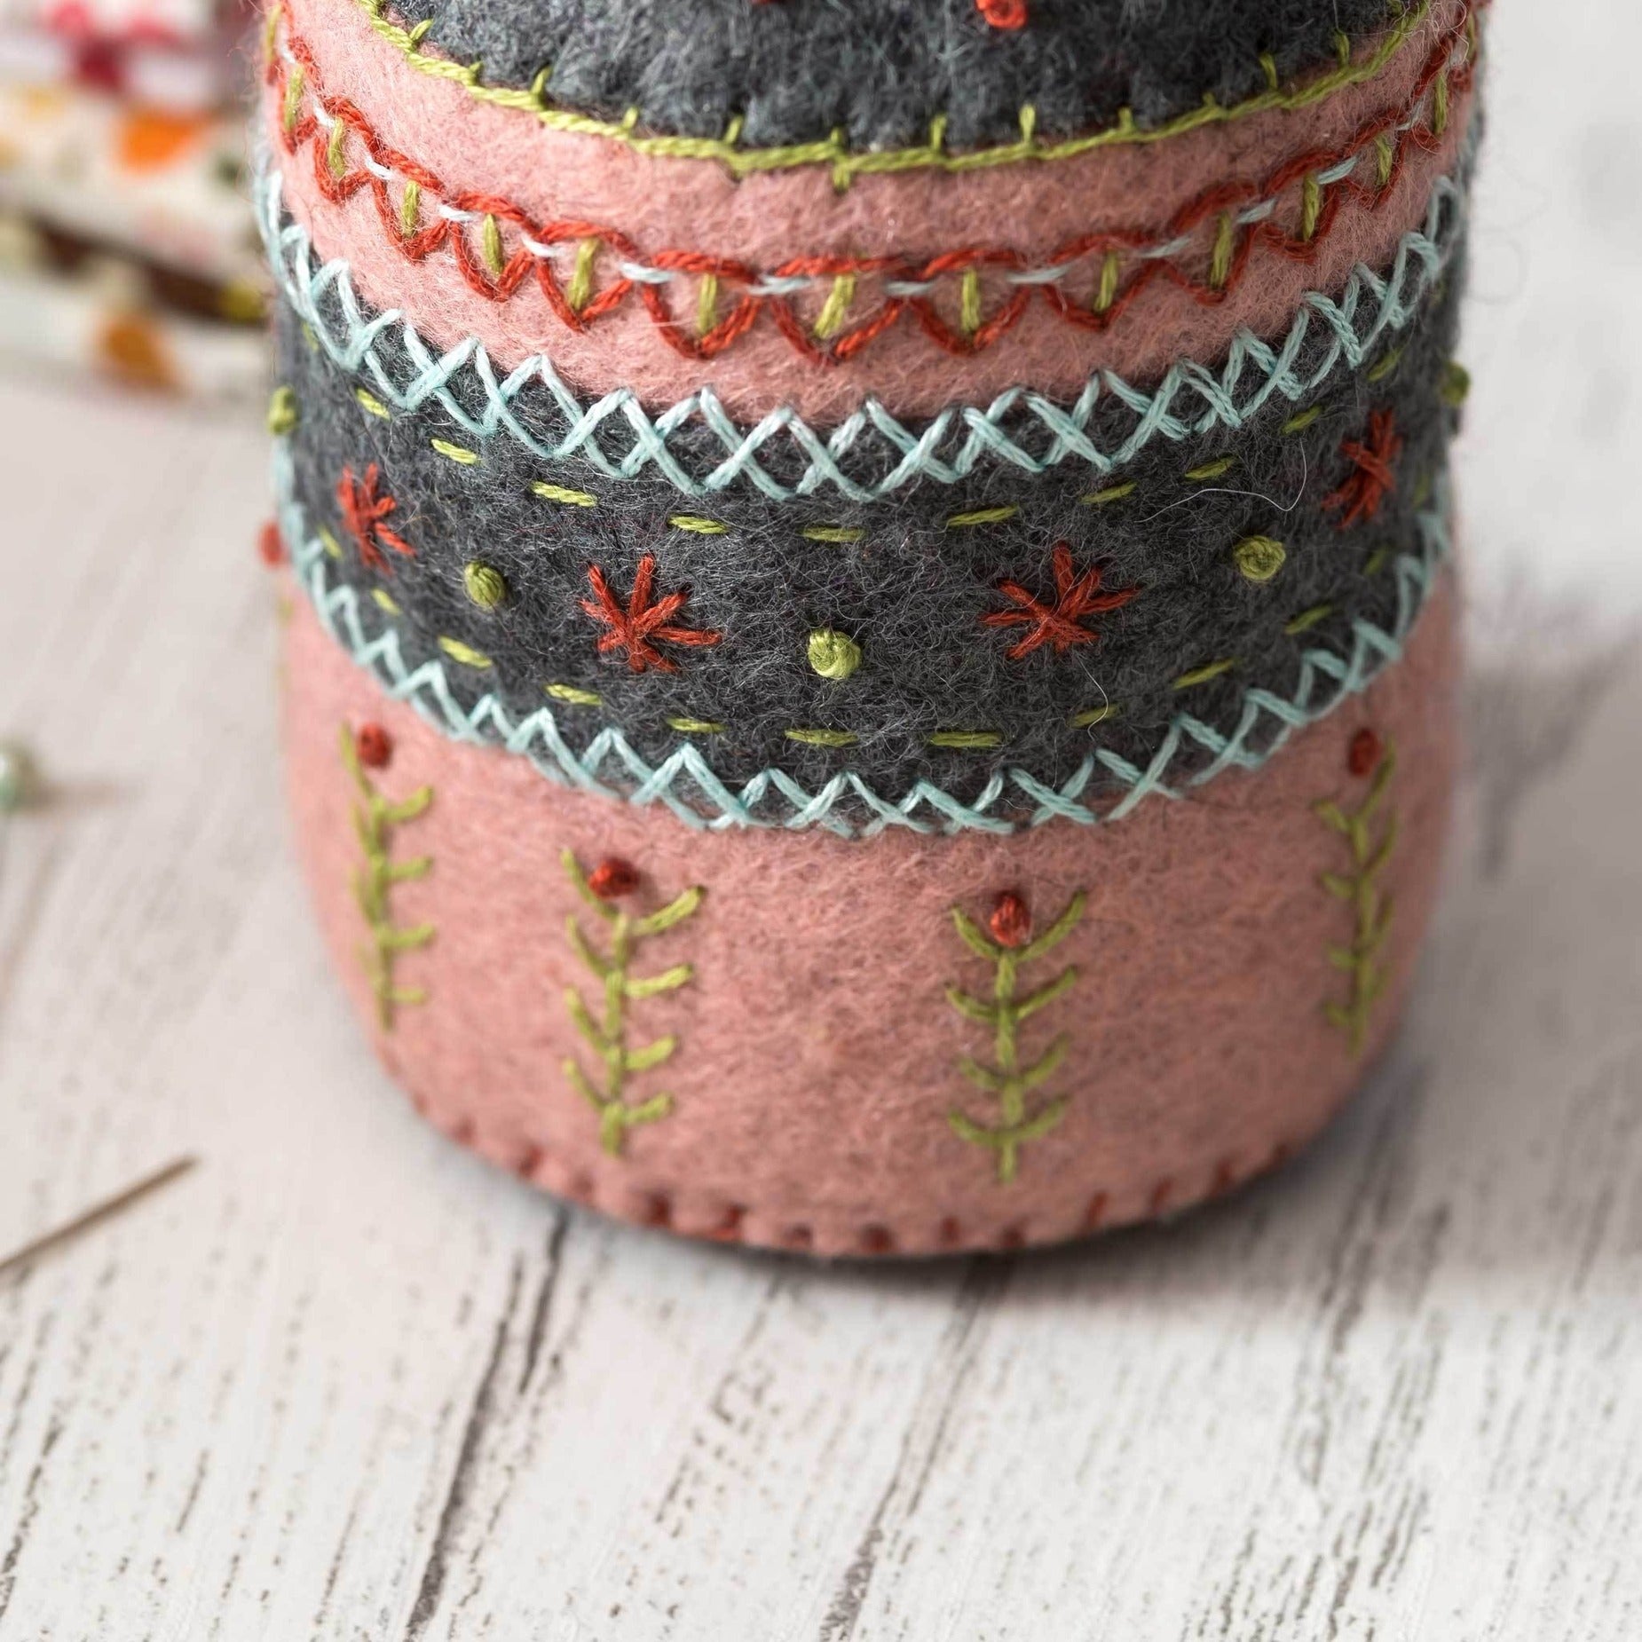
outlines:
{"label": "red scalloped and zigzag embroidery row across the upper pink felt band", "polygon": [[[297,97],[289,97],[291,76],[277,53],[269,54],[266,77],[279,94],[279,103],[291,108],[279,133],[286,151],[296,154],[304,143],[312,143],[314,181],[333,205],[346,204],[360,189],[369,189],[388,243],[394,245],[407,259],[420,263],[440,250],[448,250],[463,281],[491,302],[507,302],[527,281],[534,281],[560,323],[576,332],[588,330],[598,320],[621,309],[629,299],[635,299],[644,304],[667,343],[693,360],[711,360],[724,353],[752,330],[760,314],[768,312],[770,320],[793,351],[811,365],[831,366],[855,358],[875,338],[897,325],[903,315],[916,322],[936,346],[952,355],[967,356],[985,351],[1013,330],[1033,300],[1046,302],[1069,325],[1103,332],[1121,319],[1130,304],[1154,279],[1169,279],[1187,291],[1195,302],[1212,307],[1225,302],[1241,284],[1250,258],[1261,246],[1291,261],[1315,261],[1319,246],[1333,232],[1342,204],[1355,200],[1368,212],[1379,210],[1402,176],[1409,144],[1425,151],[1433,151],[1438,146],[1440,135],[1433,128],[1430,115],[1410,125],[1407,131],[1399,133],[1397,126],[1414,118],[1415,110],[1422,107],[1438,77],[1447,76],[1450,94],[1463,92],[1471,85],[1475,62],[1466,61],[1452,71],[1448,67],[1448,57],[1458,41],[1465,38],[1470,21],[1471,8],[1466,7],[1455,18],[1453,26],[1433,43],[1407,102],[1365,122],[1345,144],[1297,154],[1261,181],[1212,187],[1182,205],[1161,230],[1149,225],[1082,235],[1046,258],[1028,258],[1021,251],[1000,246],[961,246],[928,261],[903,256],[798,256],[775,268],[755,268],[736,258],[690,250],[665,250],[645,256],[627,235],[604,223],[585,220],[537,223],[512,200],[493,194],[450,189],[427,166],[388,144],[348,99],[327,99],[323,95],[312,48],[291,30],[289,18],[286,18],[286,44],[302,71]],[[328,133],[320,126],[312,110],[297,112],[307,95],[312,95],[332,120],[342,122],[345,135],[356,138],[365,146],[376,167],[415,184],[419,199],[410,204],[409,210],[404,202],[396,200],[389,184],[371,169],[363,164],[348,167],[345,148],[333,148],[327,141]],[[1387,149],[1381,156],[1384,169],[1376,179],[1365,184],[1353,174],[1322,186],[1314,199],[1314,217],[1310,207],[1286,213],[1297,218],[1297,232],[1291,232],[1271,217],[1258,223],[1245,223],[1228,235],[1217,232],[1212,256],[1207,255],[1209,248],[1202,243],[1202,235],[1190,248],[1177,255],[1123,256],[1123,253],[1151,250],[1190,235],[1205,223],[1215,223],[1218,230],[1223,230],[1238,210],[1291,189],[1299,195],[1302,190],[1297,186],[1304,179],[1315,179],[1319,171],[1325,171],[1342,159],[1366,158],[1378,143],[1387,144]],[[333,161],[335,171],[332,169]],[[443,202],[470,220],[456,223],[433,212],[432,220],[424,225],[422,218],[429,215],[430,202]],[[512,230],[516,238],[511,253],[501,240],[504,228]],[[591,263],[594,277],[601,269],[608,273],[622,263],[639,263],[658,273],[713,279],[724,302],[722,317],[698,335],[693,299],[683,302],[675,314],[663,287],[650,281],[632,279],[627,274],[609,279],[596,292],[589,289],[585,299],[578,297],[578,302],[571,304],[570,291],[555,271],[553,261],[527,250],[521,243],[524,236],[529,236],[535,246],[548,248],[565,246],[570,250],[571,246],[596,245],[598,255]],[[476,243],[483,243],[483,250],[476,250]],[[1117,281],[1113,289],[1103,291],[1103,297],[1108,300],[1089,304],[1080,299],[1082,291],[1097,281],[1105,284],[1103,259],[1108,255],[1123,258],[1128,273]],[[974,279],[987,273],[1003,277],[1011,273],[1067,268],[1072,263],[1087,264],[1087,284],[1067,277],[1062,282],[1033,281],[1008,287],[1010,294],[1003,297],[995,312],[972,328],[962,322],[954,325],[943,317],[941,305],[933,294],[895,296],[888,291],[890,284],[898,282],[946,281],[951,297],[965,282],[974,284]],[[765,282],[775,284],[791,277],[836,281],[844,276],[878,276],[883,286],[882,299],[874,312],[855,323],[841,325],[824,338],[816,337],[814,317],[811,315],[806,322],[793,296],[770,294],[767,289],[760,289],[765,287]],[[949,279],[947,276],[956,277]],[[1067,287],[1079,294],[1069,296]],[[865,300],[865,292],[857,289],[855,300]],[[952,305],[951,300],[947,305]],[[957,305],[965,307],[967,302]]]}

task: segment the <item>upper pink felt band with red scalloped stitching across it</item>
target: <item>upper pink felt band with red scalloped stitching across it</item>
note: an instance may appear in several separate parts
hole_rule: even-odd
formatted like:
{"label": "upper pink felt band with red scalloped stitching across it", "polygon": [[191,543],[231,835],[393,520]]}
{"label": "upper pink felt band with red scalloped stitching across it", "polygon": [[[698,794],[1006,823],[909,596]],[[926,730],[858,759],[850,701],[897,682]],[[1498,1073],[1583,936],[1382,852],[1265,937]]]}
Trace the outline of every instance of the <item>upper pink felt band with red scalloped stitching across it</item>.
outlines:
{"label": "upper pink felt band with red scalloped stitching across it", "polygon": [[[1453,167],[1471,112],[1463,67],[1445,77],[1437,108],[1435,66],[1458,53],[1463,16],[1460,0],[1442,0],[1381,76],[1310,108],[1071,161],[869,176],[837,194],[819,167],[736,182],[711,161],[654,159],[478,103],[460,85],[409,67],[350,0],[289,0],[287,16],[282,49],[307,64],[296,138],[289,62],[266,94],[286,199],[320,256],[350,264],[361,296],[402,309],[440,346],[479,337],[504,368],[545,353],[581,392],[626,386],[652,406],[711,386],[742,420],[790,404],[813,422],[834,422],[867,394],[900,415],[984,402],[1021,384],[1064,397],[1095,369],[1148,379],[1182,356],[1217,358],[1243,327],[1279,332],[1305,291],[1337,289],[1358,261],[1391,261],[1397,240],[1424,218],[1433,179]],[[345,117],[342,149],[328,146],[322,120],[309,118],[314,107],[327,120]],[[1360,156],[1358,169],[1323,184],[1309,207],[1305,176],[1327,172],[1342,153]],[[388,156],[396,176],[414,167],[422,177],[412,235],[401,217],[402,186],[369,182],[365,161],[381,166]],[[1386,187],[1383,164],[1391,167]],[[1238,230],[1236,255],[1217,277],[1222,215],[1264,199],[1274,205],[1269,218]],[[473,223],[442,230],[440,202]],[[563,230],[550,236],[562,289],[578,238],[598,238],[593,230],[619,238],[624,250],[606,240],[594,264],[591,294],[606,307],[586,307],[585,296],[591,317],[566,319],[524,253],[517,273],[498,277],[484,261],[481,205],[504,225],[507,256],[519,245],[509,212],[539,230]],[[1092,314],[1103,250],[1069,261],[1053,286],[1011,282],[1103,233],[1151,246],[1184,235],[1187,248],[1121,261],[1125,279],[1146,277],[1100,325]],[[965,320],[964,269],[975,251],[1018,253],[1020,266],[977,266],[975,312]],[[696,343],[701,282],[691,269],[701,258],[749,271],[739,281],[714,276],[722,335],[714,333],[709,356]],[[828,258],[911,259],[926,274],[943,261],[923,281],[928,312],[906,304],[890,314],[888,276],[862,273],[821,337],[836,273]],[[805,292],[745,305],[752,271],[762,277],[803,259],[823,259],[805,269]],[[612,291],[622,261],[665,263],[673,277]]]}

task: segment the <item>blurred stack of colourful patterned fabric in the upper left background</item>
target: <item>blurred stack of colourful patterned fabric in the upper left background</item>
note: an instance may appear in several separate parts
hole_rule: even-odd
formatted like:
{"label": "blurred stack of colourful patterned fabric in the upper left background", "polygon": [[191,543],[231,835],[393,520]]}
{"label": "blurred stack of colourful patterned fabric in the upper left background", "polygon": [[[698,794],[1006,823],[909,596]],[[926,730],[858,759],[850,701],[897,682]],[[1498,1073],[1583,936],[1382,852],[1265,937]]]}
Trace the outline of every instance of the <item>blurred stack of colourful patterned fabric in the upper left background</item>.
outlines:
{"label": "blurred stack of colourful patterned fabric in the upper left background", "polygon": [[235,0],[0,0],[0,363],[266,384]]}

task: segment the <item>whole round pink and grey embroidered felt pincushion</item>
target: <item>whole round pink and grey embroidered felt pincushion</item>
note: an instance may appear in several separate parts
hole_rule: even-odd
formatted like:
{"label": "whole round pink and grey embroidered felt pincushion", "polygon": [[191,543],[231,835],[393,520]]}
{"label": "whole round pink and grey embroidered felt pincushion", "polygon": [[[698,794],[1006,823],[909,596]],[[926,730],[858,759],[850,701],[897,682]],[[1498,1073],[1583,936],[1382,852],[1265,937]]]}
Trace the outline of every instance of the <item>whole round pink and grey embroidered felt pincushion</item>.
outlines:
{"label": "whole round pink and grey embroidered felt pincushion", "polygon": [[1383,1046],[1476,5],[1153,10],[269,13],[297,829],[456,1138],[1013,1246],[1269,1166]]}

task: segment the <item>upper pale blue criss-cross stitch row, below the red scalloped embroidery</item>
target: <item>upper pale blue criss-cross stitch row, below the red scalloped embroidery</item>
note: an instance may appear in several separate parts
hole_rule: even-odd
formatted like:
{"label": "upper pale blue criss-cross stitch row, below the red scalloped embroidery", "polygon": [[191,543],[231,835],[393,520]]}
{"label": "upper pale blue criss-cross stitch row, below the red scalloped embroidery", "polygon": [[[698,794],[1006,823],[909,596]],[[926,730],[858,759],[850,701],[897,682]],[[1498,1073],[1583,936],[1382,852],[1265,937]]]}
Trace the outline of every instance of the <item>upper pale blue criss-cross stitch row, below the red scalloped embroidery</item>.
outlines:
{"label": "upper pale blue criss-cross stitch row, below the red scalloped embroidery", "polygon": [[[655,417],[629,388],[585,404],[560,381],[545,355],[525,360],[498,381],[489,355],[475,337],[435,355],[397,309],[366,319],[346,263],[315,266],[305,230],[282,220],[281,177],[266,163],[256,197],[268,253],[291,307],[330,360],[348,373],[368,376],[374,392],[392,409],[409,412],[437,404],[476,440],[506,432],[544,463],[581,458],[609,478],[632,478],[654,465],[686,496],[711,496],[745,479],[772,501],[810,496],[826,484],[854,501],[878,501],[921,479],[954,484],[984,461],[1013,465],[1033,475],[1061,461],[1085,461],[1103,476],[1133,460],[1153,438],[1179,442],[1215,427],[1238,429],[1273,397],[1294,404],[1342,365],[1353,371],[1361,368],[1384,337],[1414,319],[1453,258],[1465,217],[1465,171],[1461,161],[1456,176],[1438,179],[1424,227],[1402,236],[1387,274],[1360,263],[1338,297],[1309,292],[1281,346],[1245,330],[1218,371],[1182,360],[1153,392],[1100,371],[1069,407],[1011,388],[985,407],[954,406],[920,429],[908,429],[869,399],[826,438],[790,409],[772,410],[755,427],[742,429],[711,388],[698,389]],[[406,371],[401,363],[397,378],[376,348],[378,338],[392,330],[412,366]],[[453,391],[453,384],[461,391]],[[553,443],[544,443],[512,412],[514,401],[529,386],[545,389],[563,420],[565,432]],[[1117,399],[1135,422],[1113,448],[1102,450],[1089,427],[1095,407],[1107,399]],[[476,402],[483,402],[478,414],[468,407]],[[722,460],[714,461],[711,453],[681,456],[673,448],[673,435],[693,420],[711,430],[722,447]],[[1033,443],[1039,443],[1038,430],[1044,437],[1036,452],[1016,437],[1031,432]],[[612,455],[606,445],[624,448]],[[772,455],[787,456],[783,466],[790,466],[787,445],[808,463],[793,484],[759,460],[768,448]],[[686,463],[701,471],[691,471]]]}

